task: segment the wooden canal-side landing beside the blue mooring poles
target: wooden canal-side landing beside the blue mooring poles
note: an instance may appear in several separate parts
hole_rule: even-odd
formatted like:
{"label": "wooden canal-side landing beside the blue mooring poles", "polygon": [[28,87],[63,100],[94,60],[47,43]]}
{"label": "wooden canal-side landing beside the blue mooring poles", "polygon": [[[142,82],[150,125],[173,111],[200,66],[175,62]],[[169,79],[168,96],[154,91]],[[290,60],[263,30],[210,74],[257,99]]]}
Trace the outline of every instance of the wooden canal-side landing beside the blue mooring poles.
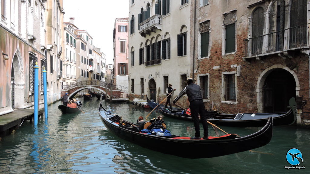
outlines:
{"label": "wooden canal-side landing beside the blue mooring poles", "polygon": [[[44,108],[39,109],[39,117],[42,116]],[[0,136],[10,134],[13,129],[18,129],[24,120],[33,120],[33,109],[16,109],[11,113],[0,115]]]}

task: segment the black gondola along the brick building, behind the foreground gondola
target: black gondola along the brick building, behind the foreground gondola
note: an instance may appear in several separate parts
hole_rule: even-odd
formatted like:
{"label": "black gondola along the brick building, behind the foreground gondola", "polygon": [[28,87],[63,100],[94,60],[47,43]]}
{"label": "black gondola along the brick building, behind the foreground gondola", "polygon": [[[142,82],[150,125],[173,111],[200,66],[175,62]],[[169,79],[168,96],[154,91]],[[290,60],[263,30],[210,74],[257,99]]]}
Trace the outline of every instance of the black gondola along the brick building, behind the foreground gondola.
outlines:
{"label": "black gondola along the brick building, behind the foreground gondola", "polygon": [[[151,108],[155,108],[158,103],[152,102],[147,98],[148,105]],[[264,126],[268,117],[273,117],[273,125],[290,125],[296,121],[296,102],[294,97],[289,101],[290,110],[282,113],[238,113],[236,114],[224,114],[216,113],[213,111],[206,111],[207,120],[216,125],[224,125],[231,127],[260,127]],[[172,109],[165,108],[163,105],[159,105],[156,108],[162,115],[181,119],[181,120],[193,120],[193,118],[186,113],[183,109],[172,107]],[[210,118],[212,117],[212,118]]]}

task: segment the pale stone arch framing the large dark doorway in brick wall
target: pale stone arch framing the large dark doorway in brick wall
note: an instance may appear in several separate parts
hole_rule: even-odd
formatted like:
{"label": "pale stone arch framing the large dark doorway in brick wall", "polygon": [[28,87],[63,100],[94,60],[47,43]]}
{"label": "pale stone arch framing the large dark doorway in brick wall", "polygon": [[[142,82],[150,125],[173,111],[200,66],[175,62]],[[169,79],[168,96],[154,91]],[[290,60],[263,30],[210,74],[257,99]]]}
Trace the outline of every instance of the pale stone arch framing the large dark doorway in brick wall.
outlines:
{"label": "pale stone arch framing the large dark doorway in brick wall", "polygon": [[298,77],[296,75],[296,73],[291,70],[290,68],[280,65],[280,64],[276,64],[276,65],[272,65],[271,67],[266,68],[259,76],[258,81],[257,81],[257,85],[256,85],[256,100],[257,100],[257,109],[258,112],[263,112],[263,88],[265,84],[265,81],[268,77],[268,75],[270,73],[272,73],[275,70],[278,69],[282,69],[282,70],[286,70],[287,72],[289,72],[292,75],[292,78],[295,80],[295,90],[296,90],[296,96],[299,96],[299,88],[300,88],[300,84],[299,84],[299,80]]}

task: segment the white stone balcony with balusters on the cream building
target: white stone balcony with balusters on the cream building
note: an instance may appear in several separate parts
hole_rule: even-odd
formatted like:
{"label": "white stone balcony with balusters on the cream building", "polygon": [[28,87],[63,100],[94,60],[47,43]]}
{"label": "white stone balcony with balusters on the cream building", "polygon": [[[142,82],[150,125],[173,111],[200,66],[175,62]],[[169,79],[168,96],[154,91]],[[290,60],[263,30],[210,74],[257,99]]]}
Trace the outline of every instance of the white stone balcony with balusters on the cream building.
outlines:
{"label": "white stone balcony with balusters on the cream building", "polygon": [[156,29],[162,30],[162,15],[153,15],[147,20],[141,22],[140,35],[145,37],[146,34],[151,35],[151,32],[156,33]]}

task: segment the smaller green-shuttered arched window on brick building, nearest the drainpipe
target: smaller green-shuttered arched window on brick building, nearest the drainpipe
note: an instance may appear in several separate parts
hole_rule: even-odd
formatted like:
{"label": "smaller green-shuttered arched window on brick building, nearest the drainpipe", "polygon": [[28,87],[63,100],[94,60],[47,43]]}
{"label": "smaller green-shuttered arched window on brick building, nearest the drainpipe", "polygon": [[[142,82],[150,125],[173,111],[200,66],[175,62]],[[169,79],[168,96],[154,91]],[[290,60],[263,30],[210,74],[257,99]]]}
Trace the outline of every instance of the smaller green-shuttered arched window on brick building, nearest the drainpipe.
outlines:
{"label": "smaller green-shuttered arched window on brick building, nearest the drainpipe", "polygon": [[200,58],[209,56],[209,32],[210,25],[208,22],[204,22],[200,25]]}

